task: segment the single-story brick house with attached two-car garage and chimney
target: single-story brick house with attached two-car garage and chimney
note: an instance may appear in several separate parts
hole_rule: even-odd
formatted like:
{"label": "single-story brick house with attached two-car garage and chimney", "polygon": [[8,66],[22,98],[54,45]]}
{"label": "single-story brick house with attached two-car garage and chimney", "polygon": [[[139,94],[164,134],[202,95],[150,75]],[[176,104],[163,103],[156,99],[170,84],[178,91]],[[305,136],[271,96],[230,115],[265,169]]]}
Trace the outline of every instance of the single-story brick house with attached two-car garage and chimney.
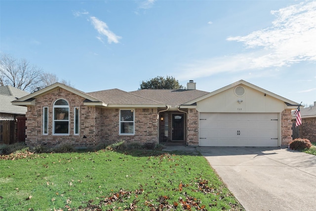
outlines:
{"label": "single-story brick house with attached two-car garage and chimney", "polygon": [[103,140],[191,146],[270,146],[292,140],[298,103],[240,80],[213,92],[108,89],[52,84],[12,102],[27,106],[26,144],[96,145]]}

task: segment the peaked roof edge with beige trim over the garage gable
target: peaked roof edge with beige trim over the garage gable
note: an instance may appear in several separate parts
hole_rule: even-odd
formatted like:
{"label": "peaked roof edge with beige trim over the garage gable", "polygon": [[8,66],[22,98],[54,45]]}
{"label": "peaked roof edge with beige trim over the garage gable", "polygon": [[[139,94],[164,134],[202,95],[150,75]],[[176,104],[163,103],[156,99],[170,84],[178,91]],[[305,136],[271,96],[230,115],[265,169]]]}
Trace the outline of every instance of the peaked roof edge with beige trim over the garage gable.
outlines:
{"label": "peaked roof edge with beige trim over the garage gable", "polygon": [[203,96],[201,96],[201,97],[199,97],[199,98],[197,98],[197,99],[191,100],[191,101],[185,103],[185,105],[190,105],[190,104],[196,103],[196,102],[198,102],[198,101],[200,101],[200,100],[206,99],[206,98],[208,98],[208,97],[210,97],[210,96],[213,96],[213,95],[215,95],[215,94],[218,94],[218,93],[220,93],[220,92],[223,92],[223,91],[225,91],[225,90],[227,90],[227,89],[229,89],[229,88],[235,87],[235,86],[237,86],[237,85],[249,86],[249,87],[251,87],[251,88],[253,88],[253,89],[255,89],[255,90],[258,90],[258,91],[260,91],[260,92],[262,92],[262,93],[265,93],[265,94],[267,94],[267,95],[270,95],[270,96],[272,96],[272,97],[275,97],[276,99],[279,99],[279,100],[283,101],[283,102],[285,103],[286,107],[289,108],[289,109],[295,109],[295,108],[298,106],[298,103],[296,103],[296,102],[294,102],[294,101],[292,101],[292,100],[289,100],[289,99],[286,99],[286,98],[284,98],[284,97],[281,97],[281,96],[279,96],[279,95],[277,95],[277,94],[275,94],[275,93],[273,93],[273,92],[270,92],[270,91],[268,91],[268,90],[266,90],[266,89],[263,89],[263,88],[261,88],[261,87],[259,87],[259,86],[254,85],[254,84],[250,84],[250,83],[245,82],[245,81],[243,81],[243,80],[237,81],[237,82],[235,82],[235,83],[233,83],[233,84],[224,86],[224,87],[222,87],[222,88],[220,88],[220,89],[217,89],[217,90],[212,91],[212,92],[210,92],[210,93],[208,93],[208,94],[205,94],[205,95],[203,95]]}

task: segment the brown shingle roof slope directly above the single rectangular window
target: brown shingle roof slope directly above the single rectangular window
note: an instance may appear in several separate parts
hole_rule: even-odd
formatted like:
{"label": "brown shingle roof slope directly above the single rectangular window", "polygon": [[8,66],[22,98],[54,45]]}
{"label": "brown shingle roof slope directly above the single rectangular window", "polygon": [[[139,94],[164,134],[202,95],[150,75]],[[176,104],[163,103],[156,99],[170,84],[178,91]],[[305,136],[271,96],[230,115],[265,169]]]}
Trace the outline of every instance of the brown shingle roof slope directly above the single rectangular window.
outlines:
{"label": "brown shingle roof slope directly above the single rectangular window", "polygon": [[138,96],[138,95],[135,95],[130,92],[126,92],[117,88],[102,90],[102,91],[95,91],[95,92],[88,92],[87,94],[108,104],[125,104],[125,105],[161,104],[158,101],[155,101],[146,97]]}

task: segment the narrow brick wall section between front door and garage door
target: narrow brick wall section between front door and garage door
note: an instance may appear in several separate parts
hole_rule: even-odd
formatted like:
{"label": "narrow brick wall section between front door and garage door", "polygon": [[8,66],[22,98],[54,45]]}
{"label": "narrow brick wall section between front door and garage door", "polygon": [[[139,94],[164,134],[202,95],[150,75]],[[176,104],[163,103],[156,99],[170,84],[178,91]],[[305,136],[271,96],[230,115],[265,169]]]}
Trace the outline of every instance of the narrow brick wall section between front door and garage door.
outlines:
{"label": "narrow brick wall section between front door and garage door", "polygon": [[196,109],[188,110],[188,145],[198,146],[199,114]]}

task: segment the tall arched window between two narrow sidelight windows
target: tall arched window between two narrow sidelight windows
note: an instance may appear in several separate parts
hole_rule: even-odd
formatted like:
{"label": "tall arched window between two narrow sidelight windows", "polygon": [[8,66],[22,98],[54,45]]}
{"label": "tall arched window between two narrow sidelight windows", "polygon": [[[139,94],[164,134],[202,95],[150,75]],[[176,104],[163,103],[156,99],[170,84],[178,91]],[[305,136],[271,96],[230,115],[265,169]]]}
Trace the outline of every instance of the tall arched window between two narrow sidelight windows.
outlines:
{"label": "tall arched window between two narrow sidelight windows", "polygon": [[69,104],[64,99],[56,100],[54,103],[54,134],[69,134]]}

